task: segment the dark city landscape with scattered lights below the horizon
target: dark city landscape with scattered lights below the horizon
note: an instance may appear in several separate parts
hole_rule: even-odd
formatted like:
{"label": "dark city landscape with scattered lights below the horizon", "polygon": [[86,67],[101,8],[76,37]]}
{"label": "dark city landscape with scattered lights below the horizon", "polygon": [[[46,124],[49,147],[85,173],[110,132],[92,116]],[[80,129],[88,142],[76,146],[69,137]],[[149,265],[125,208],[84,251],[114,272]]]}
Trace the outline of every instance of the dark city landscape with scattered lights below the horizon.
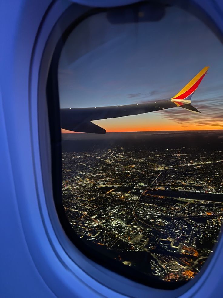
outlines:
{"label": "dark city landscape with scattered lights below the horizon", "polygon": [[63,204],[74,232],[149,278],[195,277],[223,222],[222,131],[66,136]]}

